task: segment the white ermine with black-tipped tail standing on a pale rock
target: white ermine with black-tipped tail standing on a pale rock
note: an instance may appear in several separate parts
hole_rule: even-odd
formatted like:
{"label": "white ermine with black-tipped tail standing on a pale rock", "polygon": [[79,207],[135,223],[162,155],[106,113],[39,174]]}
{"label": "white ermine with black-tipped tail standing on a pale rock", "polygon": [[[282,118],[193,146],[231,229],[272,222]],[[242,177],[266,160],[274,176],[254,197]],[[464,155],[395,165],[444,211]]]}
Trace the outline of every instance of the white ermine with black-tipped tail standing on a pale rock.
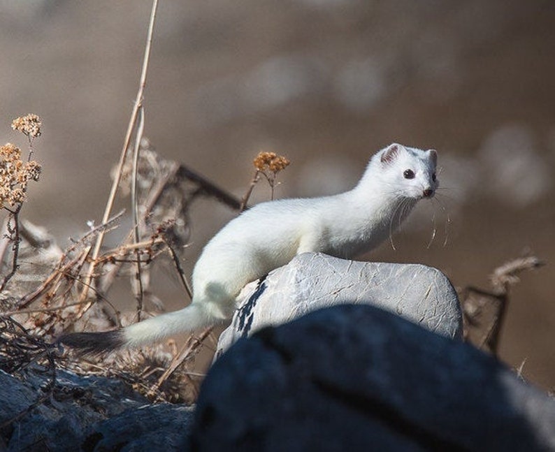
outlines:
{"label": "white ermine with black-tipped tail standing on a pale rock", "polygon": [[438,188],[435,150],[392,144],[375,154],[354,189],[322,198],[268,201],[229,221],[204,247],[189,306],[105,333],[71,333],[60,342],[82,353],[137,347],[231,319],[243,286],[320,251],[353,258],[388,238],[412,207]]}

